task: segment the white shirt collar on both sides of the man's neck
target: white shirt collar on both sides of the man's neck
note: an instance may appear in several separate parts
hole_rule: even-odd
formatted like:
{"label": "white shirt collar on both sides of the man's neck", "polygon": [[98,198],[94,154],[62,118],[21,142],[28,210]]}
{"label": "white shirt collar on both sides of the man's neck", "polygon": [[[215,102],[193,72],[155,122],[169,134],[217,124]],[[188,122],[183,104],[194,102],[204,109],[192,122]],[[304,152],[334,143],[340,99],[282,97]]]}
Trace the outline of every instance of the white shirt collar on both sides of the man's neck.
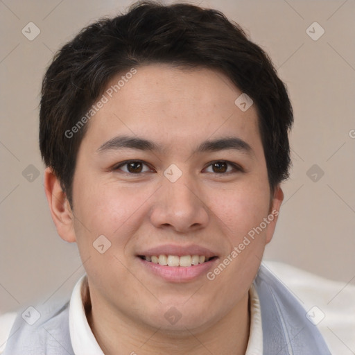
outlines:
{"label": "white shirt collar on both sides of the man's neck", "polygon": [[[85,287],[84,275],[76,283],[70,299],[69,329],[71,345],[75,355],[104,355],[92,329],[87,322],[82,298]],[[254,286],[250,288],[250,336],[245,355],[263,354],[263,329],[261,327],[260,302]]]}

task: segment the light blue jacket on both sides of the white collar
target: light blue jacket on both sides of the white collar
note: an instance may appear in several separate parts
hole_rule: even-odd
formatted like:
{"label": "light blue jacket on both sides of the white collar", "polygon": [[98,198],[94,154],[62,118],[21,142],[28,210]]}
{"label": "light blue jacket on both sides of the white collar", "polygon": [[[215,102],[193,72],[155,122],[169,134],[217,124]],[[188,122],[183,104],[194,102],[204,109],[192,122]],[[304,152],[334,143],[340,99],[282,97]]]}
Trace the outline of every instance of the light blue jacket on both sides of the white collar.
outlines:
{"label": "light blue jacket on both sides of the white collar", "polygon": [[[306,311],[278,279],[261,265],[254,280],[261,307],[263,355],[331,355]],[[21,315],[3,355],[74,355],[69,334],[69,302],[41,310],[29,325]]]}

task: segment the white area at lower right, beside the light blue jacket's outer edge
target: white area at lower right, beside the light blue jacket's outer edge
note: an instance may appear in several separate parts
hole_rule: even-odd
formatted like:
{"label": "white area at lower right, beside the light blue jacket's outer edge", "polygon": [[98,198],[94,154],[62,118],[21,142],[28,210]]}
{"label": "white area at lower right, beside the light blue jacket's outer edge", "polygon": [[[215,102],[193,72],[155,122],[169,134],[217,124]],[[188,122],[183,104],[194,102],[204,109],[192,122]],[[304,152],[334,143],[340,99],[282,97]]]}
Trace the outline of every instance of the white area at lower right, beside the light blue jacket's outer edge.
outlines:
{"label": "white area at lower right, beside the light blue jacket's outer edge", "polygon": [[332,354],[354,354],[354,285],[325,279],[285,263],[264,261],[263,266],[297,298]]}

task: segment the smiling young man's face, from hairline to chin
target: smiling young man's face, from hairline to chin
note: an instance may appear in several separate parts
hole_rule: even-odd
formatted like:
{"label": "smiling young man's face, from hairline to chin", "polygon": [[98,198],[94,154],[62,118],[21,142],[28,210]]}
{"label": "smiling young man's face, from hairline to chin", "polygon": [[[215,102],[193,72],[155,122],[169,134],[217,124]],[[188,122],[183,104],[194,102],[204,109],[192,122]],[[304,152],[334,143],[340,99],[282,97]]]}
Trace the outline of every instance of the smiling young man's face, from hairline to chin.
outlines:
{"label": "smiling young man's face, from hairline to chin", "polygon": [[73,239],[101,309],[197,330],[245,305],[282,192],[270,196],[257,110],[243,112],[241,94],[217,71],[157,64],[105,94],[73,178]]}

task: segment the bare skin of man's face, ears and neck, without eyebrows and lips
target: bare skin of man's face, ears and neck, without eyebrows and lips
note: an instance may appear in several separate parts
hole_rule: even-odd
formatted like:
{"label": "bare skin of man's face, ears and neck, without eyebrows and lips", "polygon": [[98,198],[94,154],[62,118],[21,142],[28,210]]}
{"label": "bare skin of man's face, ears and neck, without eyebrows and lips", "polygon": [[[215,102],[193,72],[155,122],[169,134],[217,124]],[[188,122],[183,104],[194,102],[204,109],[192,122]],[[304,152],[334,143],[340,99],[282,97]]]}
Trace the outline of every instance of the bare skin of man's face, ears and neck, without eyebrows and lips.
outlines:
{"label": "bare skin of man's face, ears and neck, without eyebrows and lips", "polygon": [[[137,252],[157,245],[194,243],[218,254],[216,267],[279,210],[284,196],[279,186],[270,195],[257,110],[252,105],[242,112],[234,104],[239,95],[227,77],[211,69],[137,67],[89,121],[73,178],[73,209],[46,169],[51,214],[62,239],[78,243],[92,301],[87,318],[105,354],[245,354],[248,290],[277,218],[213,281],[204,274],[168,282],[137,258]],[[98,152],[119,135],[149,139],[162,150]],[[231,136],[250,151],[193,154],[206,139]],[[114,169],[128,159],[147,165],[136,174],[127,165]],[[216,161],[242,170],[222,164],[227,172],[220,172],[211,165]],[[171,164],[182,171],[176,182],[164,176]],[[92,245],[100,235],[112,243],[104,254]],[[171,306],[182,315],[175,324],[164,318]]]}

